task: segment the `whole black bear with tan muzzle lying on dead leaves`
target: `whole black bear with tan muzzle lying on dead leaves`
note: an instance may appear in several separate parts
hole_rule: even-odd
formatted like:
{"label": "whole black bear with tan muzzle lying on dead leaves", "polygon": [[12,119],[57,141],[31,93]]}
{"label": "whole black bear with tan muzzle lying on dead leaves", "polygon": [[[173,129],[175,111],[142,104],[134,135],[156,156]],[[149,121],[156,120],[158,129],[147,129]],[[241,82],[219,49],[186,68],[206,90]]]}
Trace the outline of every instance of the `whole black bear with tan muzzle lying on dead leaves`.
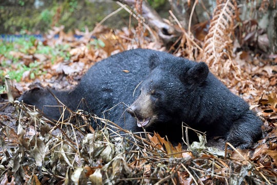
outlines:
{"label": "whole black bear with tan muzzle lying on dead leaves", "polygon": [[[112,55],[92,66],[73,90],[51,91],[73,110],[84,98],[87,103],[82,109],[127,130],[145,127],[173,141],[181,140],[182,123],[208,137],[224,136],[242,149],[251,147],[262,134],[262,121],[204,62],[166,52],[133,49]],[[49,117],[60,117],[57,107],[44,106],[57,105],[47,89],[31,89],[19,100],[36,105]]]}

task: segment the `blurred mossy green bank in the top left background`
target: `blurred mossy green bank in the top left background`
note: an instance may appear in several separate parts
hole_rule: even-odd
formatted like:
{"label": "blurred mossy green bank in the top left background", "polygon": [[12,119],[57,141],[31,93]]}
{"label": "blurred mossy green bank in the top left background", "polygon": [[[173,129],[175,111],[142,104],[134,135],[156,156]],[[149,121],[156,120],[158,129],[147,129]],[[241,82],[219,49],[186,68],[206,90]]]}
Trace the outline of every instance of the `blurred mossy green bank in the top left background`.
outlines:
{"label": "blurred mossy green bank in the top left background", "polygon": [[[0,3],[0,32],[15,33],[25,29],[47,32],[52,26],[61,25],[65,26],[65,31],[82,30],[85,26],[92,30],[96,23],[117,8],[119,6],[114,2],[108,4],[77,0],[44,1],[44,6],[38,9],[34,7],[34,1],[24,1],[24,5],[16,2]],[[128,18],[129,14],[123,10],[104,24],[111,28],[128,26]]]}

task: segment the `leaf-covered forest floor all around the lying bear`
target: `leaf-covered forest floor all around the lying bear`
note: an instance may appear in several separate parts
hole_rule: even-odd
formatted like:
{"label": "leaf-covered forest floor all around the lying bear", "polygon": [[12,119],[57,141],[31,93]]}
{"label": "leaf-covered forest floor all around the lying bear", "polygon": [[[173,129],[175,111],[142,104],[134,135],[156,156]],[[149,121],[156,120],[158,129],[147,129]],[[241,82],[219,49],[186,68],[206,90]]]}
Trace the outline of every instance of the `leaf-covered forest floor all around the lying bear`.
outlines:
{"label": "leaf-covered forest floor all around the lying bear", "polygon": [[[211,71],[263,120],[263,138],[253,149],[221,150],[223,141],[205,136],[189,147],[172,146],[159,134],[146,138],[113,123],[93,130],[91,115],[54,122],[18,98],[32,84],[55,89],[73,88],[96,62],[124,50],[149,48],[199,60],[186,48],[164,47],[133,29],[99,27],[78,32],[81,38],[54,28],[43,40],[3,41],[0,53],[0,181],[1,184],[274,184],[277,182],[277,56],[257,54],[234,45],[229,75]],[[58,34],[58,37],[55,35]],[[225,63],[226,64],[226,63]],[[226,67],[225,64],[222,64]],[[146,66],[147,67],[147,66]],[[5,75],[8,77],[4,78]],[[11,92],[11,93],[9,93]],[[10,103],[13,102],[13,103]],[[185,142],[185,140],[184,140]],[[232,146],[231,146],[232,147]]]}

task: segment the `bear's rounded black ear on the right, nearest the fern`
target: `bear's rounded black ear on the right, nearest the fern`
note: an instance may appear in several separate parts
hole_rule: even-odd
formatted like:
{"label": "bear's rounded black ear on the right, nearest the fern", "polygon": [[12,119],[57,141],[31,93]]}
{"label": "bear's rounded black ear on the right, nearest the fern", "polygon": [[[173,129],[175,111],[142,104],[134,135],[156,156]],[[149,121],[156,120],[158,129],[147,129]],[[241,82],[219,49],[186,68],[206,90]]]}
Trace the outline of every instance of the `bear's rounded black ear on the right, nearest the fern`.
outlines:
{"label": "bear's rounded black ear on the right, nearest the fern", "polygon": [[208,73],[209,67],[207,64],[200,62],[188,70],[186,80],[192,84],[201,84],[207,79]]}

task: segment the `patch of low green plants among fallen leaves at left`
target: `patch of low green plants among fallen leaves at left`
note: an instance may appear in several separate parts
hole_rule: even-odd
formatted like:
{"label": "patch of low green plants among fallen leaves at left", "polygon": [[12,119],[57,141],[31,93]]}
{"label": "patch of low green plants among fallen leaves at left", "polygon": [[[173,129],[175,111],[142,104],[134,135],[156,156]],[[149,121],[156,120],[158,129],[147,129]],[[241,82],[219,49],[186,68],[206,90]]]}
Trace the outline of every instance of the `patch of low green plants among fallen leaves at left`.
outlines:
{"label": "patch of low green plants among fallen leaves at left", "polygon": [[[69,45],[55,45],[54,47],[45,46],[41,41],[36,40],[34,37],[30,37],[28,40],[21,38],[14,42],[1,42],[0,41],[0,55],[4,56],[0,63],[0,67],[6,68],[6,74],[2,72],[1,80],[5,75],[9,75],[12,79],[17,82],[21,81],[24,72],[29,72],[29,78],[34,79],[36,76],[46,73],[44,71],[44,66],[41,62],[33,61],[27,65],[24,64],[22,55],[32,55],[35,53],[45,54],[50,58],[52,64],[58,58],[63,58],[64,60],[70,59]],[[11,51],[21,53],[19,55],[12,55]]]}

